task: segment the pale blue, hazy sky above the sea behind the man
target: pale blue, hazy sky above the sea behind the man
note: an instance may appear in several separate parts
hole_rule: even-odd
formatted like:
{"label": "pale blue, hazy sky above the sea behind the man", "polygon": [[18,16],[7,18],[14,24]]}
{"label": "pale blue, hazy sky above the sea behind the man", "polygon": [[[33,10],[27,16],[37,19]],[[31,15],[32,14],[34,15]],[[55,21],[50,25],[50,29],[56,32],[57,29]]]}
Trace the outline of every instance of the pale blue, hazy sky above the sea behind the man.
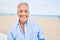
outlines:
{"label": "pale blue, hazy sky above the sea behind the man", "polygon": [[17,5],[29,4],[30,15],[60,15],[60,0],[0,0],[0,14],[17,14]]}

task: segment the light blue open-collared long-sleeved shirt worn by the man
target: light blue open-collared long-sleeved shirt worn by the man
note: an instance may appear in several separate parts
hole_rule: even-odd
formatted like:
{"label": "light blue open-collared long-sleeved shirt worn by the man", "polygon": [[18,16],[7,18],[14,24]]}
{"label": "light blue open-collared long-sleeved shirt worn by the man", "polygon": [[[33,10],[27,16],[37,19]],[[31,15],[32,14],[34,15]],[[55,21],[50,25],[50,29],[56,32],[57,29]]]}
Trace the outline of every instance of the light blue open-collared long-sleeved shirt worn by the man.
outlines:
{"label": "light blue open-collared long-sleeved shirt worn by the man", "polygon": [[9,30],[8,40],[45,40],[41,27],[33,20],[25,24],[24,32],[20,28],[19,21],[13,24]]}

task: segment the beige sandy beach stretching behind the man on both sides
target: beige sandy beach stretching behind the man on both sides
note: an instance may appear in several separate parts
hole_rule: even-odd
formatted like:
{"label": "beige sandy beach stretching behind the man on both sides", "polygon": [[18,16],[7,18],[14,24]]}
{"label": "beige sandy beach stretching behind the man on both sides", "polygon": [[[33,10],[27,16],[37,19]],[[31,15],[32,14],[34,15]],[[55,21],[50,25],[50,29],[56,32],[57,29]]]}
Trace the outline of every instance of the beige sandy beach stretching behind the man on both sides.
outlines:
{"label": "beige sandy beach stretching behind the man on both sides", "polygon": [[[37,21],[44,31],[46,40],[60,40],[60,19],[58,18],[38,18],[31,16]],[[17,16],[0,16],[0,32],[8,34],[11,24],[18,20]]]}

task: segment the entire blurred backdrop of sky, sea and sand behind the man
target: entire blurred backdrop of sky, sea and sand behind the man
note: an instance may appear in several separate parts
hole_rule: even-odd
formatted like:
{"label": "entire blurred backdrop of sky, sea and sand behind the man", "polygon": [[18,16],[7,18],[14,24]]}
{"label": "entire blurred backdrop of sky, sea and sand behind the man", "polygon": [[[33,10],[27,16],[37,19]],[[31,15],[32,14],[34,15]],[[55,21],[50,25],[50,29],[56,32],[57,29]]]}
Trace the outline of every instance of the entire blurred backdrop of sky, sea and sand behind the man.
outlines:
{"label": "entire blurred backdrop of sky, sea and sand behind the man", "polygon": [[18,20],[21,2],[29,4],[30,18],[41,25],[46,40],[60,40],[60,0],[0,0],[0,40],[7,38],[10,25]]}

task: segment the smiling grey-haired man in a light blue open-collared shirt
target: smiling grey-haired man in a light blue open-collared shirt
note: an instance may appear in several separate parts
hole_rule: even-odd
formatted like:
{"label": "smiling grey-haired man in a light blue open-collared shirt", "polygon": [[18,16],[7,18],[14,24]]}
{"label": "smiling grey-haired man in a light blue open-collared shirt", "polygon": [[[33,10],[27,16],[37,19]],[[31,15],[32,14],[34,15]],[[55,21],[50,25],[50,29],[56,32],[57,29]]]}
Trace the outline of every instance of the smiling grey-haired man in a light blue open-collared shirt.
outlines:
{"label": "smiling grey-haired man in a light blue open-collared shirt", "polygon": [[29,6],[20,3],[17,9],[19,20],[9,30],[8,40],[45,40],[40,26],[29,19]]}

